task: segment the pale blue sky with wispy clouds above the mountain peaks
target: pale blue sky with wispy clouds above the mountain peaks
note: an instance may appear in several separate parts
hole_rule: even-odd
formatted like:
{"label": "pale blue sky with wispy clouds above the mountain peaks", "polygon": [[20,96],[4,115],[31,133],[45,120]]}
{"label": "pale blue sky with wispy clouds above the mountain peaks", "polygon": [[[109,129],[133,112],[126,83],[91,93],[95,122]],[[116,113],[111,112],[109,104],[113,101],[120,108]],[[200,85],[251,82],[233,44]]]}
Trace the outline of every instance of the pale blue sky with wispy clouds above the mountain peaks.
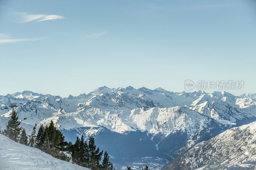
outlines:
{"label": "pale blue sky with wispy clouds above the mountain peaks", "polygon": [[2,0],[0,94],[180,92],[186,79],[244,80],[230,92],[255,93],[255,9],[253,0]]}

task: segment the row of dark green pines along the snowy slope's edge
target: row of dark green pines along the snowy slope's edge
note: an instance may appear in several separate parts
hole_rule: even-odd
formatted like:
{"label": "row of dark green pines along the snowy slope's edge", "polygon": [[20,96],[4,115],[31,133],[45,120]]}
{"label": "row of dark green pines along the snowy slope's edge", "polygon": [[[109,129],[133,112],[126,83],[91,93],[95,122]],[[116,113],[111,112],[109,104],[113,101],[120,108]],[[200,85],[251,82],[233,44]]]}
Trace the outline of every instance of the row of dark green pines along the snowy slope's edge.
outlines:
{"label": "row of dark green pines along the snowy slope's edge", "polygon": [[[25,128],[20,127],[20,121],[16,112],[13,112],[6,129],[0,133],[4,134],[8,138],[19,142],[23,145],[31,146],[40,149],[52,155],[54,158],[70,161],[80,166],[87,167],[92,170],[113,170],[113,164],[109,161],[109,155],[107,151],[103,155],[103,150],[100,151],[94,143],[94,138],[90,137],[89,141],[84,140],[84,136],[76,138],[76,142],[73,145],[70,141],[65,141],[65,137],[62,132],[54,126],[51,120],[50,124],[45,127],[41,125],[36,134],[36,124],[33,127],[31,135],[27,135]],[[71,153],[71,158],[66,153]],[[103,160],[100,163],[103,155]],[[131,167],[127,167],[128,170],[132,170]],[[115,170],[115,169],[114,169]],[[142,168],[142,170],[150,170],[148,166]]]}

